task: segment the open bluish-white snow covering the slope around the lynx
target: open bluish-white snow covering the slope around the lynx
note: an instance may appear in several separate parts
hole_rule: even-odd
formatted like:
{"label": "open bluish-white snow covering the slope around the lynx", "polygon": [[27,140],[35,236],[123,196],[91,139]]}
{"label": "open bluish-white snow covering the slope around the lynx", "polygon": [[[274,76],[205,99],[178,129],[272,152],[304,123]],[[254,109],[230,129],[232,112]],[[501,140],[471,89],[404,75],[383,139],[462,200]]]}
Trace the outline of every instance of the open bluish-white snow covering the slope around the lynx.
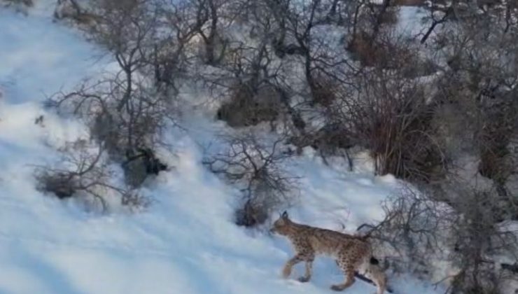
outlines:
{"label": "open bluish-white snow covering the slope around the lynx", "polygon": [[[55,162],[57,147],[86,133],[41,102],[106,63],[93,44],[52,22],[52,1],[37,3],[27,17],[0,8],[0,293],[330,293],[342,281],[325,258],[309,283],[281,279],[288,242],[234,225],[236,191],[201,164],[200,141],[224,128],[208,119],[172,132],[174,169],[143,188],[153,200],[146,211],[97,214],[38,192],[34,165]],[[368,164],[344,172],[306,155],[292,168],[302,180],[290,215],[334,230],[382,218],[379,203],[398,186],[372,176]],[[390,284],[396,293],[442,293],[411,276]],[[358,281],[344,293],[371,292]]]}

